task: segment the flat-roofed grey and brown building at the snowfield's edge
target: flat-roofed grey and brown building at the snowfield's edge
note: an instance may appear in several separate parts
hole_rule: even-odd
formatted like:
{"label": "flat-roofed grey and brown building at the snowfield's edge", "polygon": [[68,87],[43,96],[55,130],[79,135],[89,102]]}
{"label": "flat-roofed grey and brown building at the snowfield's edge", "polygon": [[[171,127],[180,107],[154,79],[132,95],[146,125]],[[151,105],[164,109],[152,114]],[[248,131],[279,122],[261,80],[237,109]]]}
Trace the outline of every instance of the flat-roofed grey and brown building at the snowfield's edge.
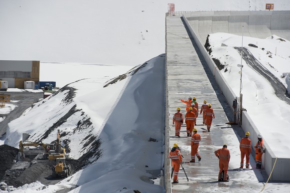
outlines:
{"label": "flat-roofed grey and brown building at the snowfield's edge", "polygon": [[0,79],[9,88],[24,88],[24,81],[39,82],[39,61],[0,60]]}

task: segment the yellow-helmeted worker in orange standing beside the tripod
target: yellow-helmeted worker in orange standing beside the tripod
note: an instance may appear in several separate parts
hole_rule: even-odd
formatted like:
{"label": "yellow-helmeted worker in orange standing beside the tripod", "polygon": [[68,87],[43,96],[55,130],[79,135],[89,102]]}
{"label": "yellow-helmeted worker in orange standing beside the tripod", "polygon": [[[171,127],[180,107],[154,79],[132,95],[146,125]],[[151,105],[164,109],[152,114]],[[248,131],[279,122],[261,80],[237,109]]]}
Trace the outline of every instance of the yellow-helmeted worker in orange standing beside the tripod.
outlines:
{"label": "yellow-helmeted worker in orange standing beside the tripod", "polygon": [[177,176],[179,172],[179,167],[182,162],[182,155],[179,151],[178,145],[173,144],[173,148],[169,152],[168,158],[171,159],[172,169],[173,169],[173,183],[178,183]]}

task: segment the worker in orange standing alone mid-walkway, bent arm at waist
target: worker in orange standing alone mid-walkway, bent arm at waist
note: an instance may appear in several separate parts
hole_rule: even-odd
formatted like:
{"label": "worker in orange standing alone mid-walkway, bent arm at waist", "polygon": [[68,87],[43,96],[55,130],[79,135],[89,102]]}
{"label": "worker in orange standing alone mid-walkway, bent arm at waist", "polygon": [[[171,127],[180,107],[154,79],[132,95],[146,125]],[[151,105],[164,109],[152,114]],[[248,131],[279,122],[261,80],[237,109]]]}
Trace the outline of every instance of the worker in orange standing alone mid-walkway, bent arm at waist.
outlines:
{"label": "worker in orange standing alone mid-walkway, bent arm at waist", "polygon": [[[214,152],[215,156],[219,159],[219,177],[218,181],[229,181],[228,170],[230,162],[230,150],[228,150],[227,144],[223,145],[223,148],[218,149]],[[223,174],[223,175],[222,175]]]}

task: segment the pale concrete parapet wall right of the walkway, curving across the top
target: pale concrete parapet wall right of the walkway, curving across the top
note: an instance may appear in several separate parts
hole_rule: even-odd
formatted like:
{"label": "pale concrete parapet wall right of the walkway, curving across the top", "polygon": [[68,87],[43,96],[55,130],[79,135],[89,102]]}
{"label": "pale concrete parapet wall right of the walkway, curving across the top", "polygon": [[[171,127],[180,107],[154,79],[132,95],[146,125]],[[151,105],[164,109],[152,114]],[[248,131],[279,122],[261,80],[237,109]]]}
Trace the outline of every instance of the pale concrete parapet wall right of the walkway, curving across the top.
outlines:
{"label": "pale concrete parapet wall right of the walkway, curving across the top", "polygon": [[[236,96],[204,47],[207,35],[210,33],[225,32],[266,38],[272,34],[276,34],[290,40],[290,11],[186,12],[183,14],[182,19],[193,36],[210,71],[215,76],[215,80],[228,101],[228,104],[232,104]],[[231,107],[231,105],[229,106]],[[240,108],[239,104],[238,108]],[[243,111],[242,116],[242,128],[247,129],[251,133],[250,139],[256,142],[257,134],[259,133],[257,127],[247,112]],[[252,143],[252,148],[254,148],[254,145],[256,143]],[[266,141],[264,141],[264,145],[266,146],[266,153],[263,158],[263,166],[267,174],[270,175],[273,167],[275,167],[271,180],[290,182],[290,158],[276,158],[275,153]]]}

